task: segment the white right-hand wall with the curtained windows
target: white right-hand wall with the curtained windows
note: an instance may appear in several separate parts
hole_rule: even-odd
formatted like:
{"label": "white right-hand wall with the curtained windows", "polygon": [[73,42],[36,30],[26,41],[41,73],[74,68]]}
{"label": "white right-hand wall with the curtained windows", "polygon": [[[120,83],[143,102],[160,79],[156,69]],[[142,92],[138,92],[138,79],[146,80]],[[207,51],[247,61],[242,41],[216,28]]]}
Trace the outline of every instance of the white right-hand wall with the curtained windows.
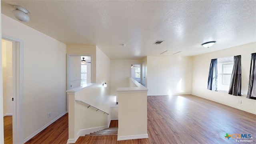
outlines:
{"label": "white right-hand wall with the curtained windows", "polygon": [[[256,52],[256,42],[194,56],[192,58],[192,94],[256,114],[256,100],[246,98],[250,74],[250,54],[254,52]],[[236,55],[241,55],[243,96],[232,96],[228,92],[207,90],[211,59]],[[238,104],[237,100],[242,100],[242,104]]]}

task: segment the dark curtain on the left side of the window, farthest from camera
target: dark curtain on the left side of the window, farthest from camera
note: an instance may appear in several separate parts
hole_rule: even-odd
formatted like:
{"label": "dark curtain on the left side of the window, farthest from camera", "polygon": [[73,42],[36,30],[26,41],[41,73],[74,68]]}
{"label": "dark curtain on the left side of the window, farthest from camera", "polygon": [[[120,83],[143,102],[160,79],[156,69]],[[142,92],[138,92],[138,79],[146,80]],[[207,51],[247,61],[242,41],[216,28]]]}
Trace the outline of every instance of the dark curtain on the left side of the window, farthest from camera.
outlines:
{"label": "dark curtain on the left side of the window, farthest from camera", "polygon": [[207,89],[217,91],[217,59],[211,60]]}

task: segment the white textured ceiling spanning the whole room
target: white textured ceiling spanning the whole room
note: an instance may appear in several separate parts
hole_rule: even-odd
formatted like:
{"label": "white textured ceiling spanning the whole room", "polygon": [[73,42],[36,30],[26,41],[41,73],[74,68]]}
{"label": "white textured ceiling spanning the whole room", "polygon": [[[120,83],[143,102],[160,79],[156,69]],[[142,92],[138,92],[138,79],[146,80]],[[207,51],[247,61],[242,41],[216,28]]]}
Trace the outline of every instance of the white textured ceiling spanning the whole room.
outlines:
{"label": "white textured ceiling spanning the whole room", "polygon": [[[97,45],[110,59],[161,56],[166,50],[193,56],[256,41],[255,0],[2,0],[2,13],[14,18],[13,4],[30,12],[27,26],[65,44]],[[156,40],[164,42],[153,45]],[[212,47],[201,46],[213,40]]]}

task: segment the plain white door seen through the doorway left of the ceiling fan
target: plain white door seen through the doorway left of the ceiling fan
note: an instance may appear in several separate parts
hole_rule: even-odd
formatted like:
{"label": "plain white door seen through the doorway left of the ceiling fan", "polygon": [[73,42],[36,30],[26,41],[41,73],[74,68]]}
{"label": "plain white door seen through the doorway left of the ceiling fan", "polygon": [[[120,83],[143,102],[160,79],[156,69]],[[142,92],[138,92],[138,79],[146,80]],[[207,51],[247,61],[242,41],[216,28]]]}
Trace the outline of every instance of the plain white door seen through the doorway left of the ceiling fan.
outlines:
{"label": "plain white door seen through the doorway left of the ceiling fan", "polygon": [[81,86],[81,56],[70,56],[69,89]]}

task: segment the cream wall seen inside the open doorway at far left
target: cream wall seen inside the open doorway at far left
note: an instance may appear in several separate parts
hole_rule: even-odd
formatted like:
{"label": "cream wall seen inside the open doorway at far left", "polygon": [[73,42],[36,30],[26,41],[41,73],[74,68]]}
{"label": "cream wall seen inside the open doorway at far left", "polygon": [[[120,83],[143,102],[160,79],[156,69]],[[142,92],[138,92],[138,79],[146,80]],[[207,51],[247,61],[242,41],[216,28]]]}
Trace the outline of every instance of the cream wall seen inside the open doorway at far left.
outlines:
{"label": "cream wall seen inside the open doorway at far left", "polygon": [[4,115],[12,115],[12,42],[2,40]]}

